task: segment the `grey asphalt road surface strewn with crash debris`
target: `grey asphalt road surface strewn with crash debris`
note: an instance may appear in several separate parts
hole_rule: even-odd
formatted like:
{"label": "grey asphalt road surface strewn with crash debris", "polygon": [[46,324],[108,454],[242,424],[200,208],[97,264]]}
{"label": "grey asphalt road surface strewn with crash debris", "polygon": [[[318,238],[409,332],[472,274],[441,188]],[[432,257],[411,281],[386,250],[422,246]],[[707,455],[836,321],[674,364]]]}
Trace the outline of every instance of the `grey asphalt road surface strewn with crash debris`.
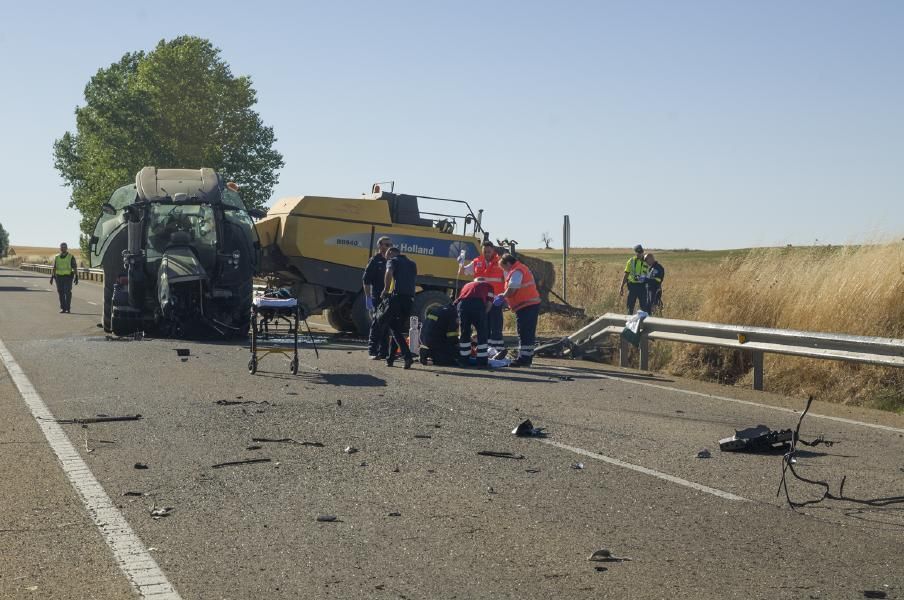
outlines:
{"label": "grey asphalt road surface strewn with crash debris", "polygon": [[[0,340],[56,419],[142,415],[59,427],[182,598],[904,597],[900,416],[814,403],[802,437],[835,444],[798,471],[870,502],[795,511],[779,455],[718,440],[793,427],[799,399],[553,360],[404,371],[335,336],[251,376],[235,344],[110,341],[100,287],[74,296],[58,314],[45,276],[0,270]],[[0,597],[136,597],[23,396],[0,369]],[[548,436],[512,436],[524,418]],[[247,459],[270,462],[213,468]]]}

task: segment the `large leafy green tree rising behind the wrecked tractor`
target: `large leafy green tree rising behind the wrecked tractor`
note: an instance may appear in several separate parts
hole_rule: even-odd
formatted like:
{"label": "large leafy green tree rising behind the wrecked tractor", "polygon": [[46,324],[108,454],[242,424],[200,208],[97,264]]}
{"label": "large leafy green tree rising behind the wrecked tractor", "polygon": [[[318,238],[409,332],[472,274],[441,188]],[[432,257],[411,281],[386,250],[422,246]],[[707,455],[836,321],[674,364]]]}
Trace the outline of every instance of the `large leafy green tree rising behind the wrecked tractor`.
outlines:
{"label": "large leafy green tree rising behind the wrecked tractor", "polygon": [[53,145],[54,166],[81,212],[82,245],[101,205],[142,167],[212,167],[263,206],[279,182],[282,155],[273,128],[252,107],[247,76],[233,76],[220,50],[201,38],[161,40],[99,69],[75,109],[76,133]]}

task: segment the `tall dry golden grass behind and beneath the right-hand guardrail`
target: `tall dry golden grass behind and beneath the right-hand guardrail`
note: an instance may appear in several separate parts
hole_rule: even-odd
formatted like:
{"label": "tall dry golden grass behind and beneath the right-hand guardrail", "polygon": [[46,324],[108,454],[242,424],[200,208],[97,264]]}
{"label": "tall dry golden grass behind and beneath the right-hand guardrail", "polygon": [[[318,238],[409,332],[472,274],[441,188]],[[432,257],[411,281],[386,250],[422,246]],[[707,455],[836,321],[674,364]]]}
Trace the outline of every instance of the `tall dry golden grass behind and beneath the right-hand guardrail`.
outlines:
{"label": "tall dry golden grass behind and beneath the right-hand guardrail", "polygon": [[[753,325],[904,337],[904,241],[864,246],[729,251],[652,250],[666,269],[662,316]],[[562,255],[529,251],[556,264]],[[588,315],[624,312],[618,297],[627,249],[577,249],[568,260],[568,300]],[[546,335],[581,323],[541,317]],[[732,351],[660,342],[652,368],[750,386],[751,365]],[[766,389],[792,396],[904,412],[904,370],[766,355]]]}

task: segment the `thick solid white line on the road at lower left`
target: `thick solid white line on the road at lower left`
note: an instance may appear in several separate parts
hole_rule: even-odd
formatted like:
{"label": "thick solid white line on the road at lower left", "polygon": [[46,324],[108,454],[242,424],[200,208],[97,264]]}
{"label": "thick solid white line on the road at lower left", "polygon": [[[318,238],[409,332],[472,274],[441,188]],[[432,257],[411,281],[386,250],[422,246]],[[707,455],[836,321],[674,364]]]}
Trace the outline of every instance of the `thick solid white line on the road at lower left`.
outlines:
{"label": "thick solid white line on the road at lower left", "polygon": [[179,593],[66,437],[63,428],[54,420],[53,414],[2,340],[0,359],[132,588],[141,598],[181,600]]}

